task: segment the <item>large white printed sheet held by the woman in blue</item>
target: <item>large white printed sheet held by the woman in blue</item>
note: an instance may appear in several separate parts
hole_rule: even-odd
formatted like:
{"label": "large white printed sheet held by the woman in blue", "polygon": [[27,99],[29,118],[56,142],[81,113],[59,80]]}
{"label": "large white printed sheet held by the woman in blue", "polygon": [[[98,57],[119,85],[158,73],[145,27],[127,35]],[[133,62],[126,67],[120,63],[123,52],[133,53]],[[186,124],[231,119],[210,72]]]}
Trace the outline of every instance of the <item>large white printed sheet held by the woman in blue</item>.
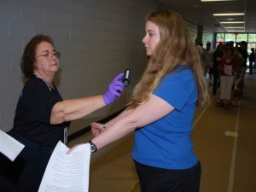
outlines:
{"label": "large white printed sheet held by the woman in blue", "polygon": [[90,144],[82,144],[66,154],[67,146],[59,142],[44,172],[38,192],[88,192]]}

